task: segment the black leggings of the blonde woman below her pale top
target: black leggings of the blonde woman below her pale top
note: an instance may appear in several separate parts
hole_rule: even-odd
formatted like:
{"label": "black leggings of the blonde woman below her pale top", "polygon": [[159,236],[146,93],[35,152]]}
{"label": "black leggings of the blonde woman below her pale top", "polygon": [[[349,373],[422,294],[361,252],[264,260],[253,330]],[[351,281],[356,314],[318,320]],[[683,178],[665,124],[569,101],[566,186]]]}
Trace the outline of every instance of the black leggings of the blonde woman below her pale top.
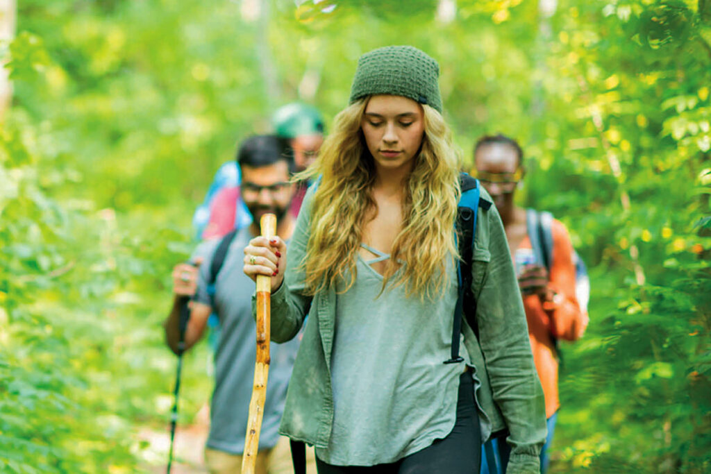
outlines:
{"label": "black leggings of the blonde woman below her pale top", "polygon": [[324,463],[316,457],[319,474],[479,474],[481,431],[474,404],[474,387],[469,372],[459,377],[456,422],[446,438],[395,463],[368,467]]}

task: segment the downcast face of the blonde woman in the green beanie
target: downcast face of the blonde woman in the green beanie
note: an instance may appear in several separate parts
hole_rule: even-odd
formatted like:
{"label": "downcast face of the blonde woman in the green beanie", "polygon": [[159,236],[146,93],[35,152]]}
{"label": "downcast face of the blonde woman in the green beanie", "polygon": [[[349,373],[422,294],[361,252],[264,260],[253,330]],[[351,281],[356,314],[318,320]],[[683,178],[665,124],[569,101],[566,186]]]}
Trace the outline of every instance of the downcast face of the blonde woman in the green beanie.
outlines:
{"label": "downcast face of the blonde woman in the green beanie", "polygon": [[422,105],[400,95],[374,95],[360,124],[378,171],[412,168],[424,134]]}

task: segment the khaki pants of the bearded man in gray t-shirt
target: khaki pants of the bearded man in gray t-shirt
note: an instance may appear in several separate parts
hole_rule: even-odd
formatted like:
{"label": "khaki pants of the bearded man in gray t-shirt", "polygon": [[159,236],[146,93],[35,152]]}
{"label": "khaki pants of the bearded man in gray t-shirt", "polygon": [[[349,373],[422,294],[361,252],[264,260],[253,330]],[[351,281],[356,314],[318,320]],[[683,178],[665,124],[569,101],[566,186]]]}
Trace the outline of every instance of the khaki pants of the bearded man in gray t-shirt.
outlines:
{"label": "khaki pants of the bearded man in gray t-shirt", "polygon": [[[242,456],[205,448],[205,465],[210,474],[240,474],[242,472]],[[257,453],[255,474],[292,473],[294,473],[292,451],[289,448],[289,438],[286,436],[281,436],[274,448],[262,449]],[[309,448],[309,446],[306,446],[306,473],[316,474],[314,448]]]}

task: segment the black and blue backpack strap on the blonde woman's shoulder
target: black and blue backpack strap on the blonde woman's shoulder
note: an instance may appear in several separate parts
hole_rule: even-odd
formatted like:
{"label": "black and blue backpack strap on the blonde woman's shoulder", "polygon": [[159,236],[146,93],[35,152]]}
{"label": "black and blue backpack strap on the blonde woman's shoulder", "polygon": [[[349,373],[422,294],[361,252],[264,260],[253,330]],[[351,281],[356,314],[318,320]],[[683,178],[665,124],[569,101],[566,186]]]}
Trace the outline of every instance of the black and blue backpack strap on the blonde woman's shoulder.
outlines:
{"label": "black and blue backpack strap on the blonde woman's shoulder", "polygon": [[474,257],[474,236],[476,235],[476,217],[479,208],[488,210],[491,203],[481,198],[479,181],[466,173],[459,175],[461,197],[456,212],[456,242],[459,251],[457,264],[457,283],[459,292],[454,310],[454,324],[451,336],[451,357],[444,361],[445,364],[461,362],[459,357],[459,334],[461,333],[461,320],[466,321],[479,337],[479,326],[476,323],[476,298],[471,293],[471,264]]}

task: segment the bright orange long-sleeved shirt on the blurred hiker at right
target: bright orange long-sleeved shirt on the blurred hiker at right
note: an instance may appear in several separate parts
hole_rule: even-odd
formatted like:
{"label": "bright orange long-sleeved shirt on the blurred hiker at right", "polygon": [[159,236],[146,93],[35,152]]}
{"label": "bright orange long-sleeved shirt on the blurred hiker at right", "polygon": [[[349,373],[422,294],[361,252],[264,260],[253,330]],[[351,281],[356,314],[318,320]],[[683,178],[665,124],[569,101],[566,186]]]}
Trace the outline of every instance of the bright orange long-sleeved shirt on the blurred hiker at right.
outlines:
{"label": "bright orange long-sleeved shirt on the blurred hiker at right", "polygon": [[[560,407],[558,399],[558,360],[551,335],[557,339],[576,340],[585,330],[587,318],[578,306],[575,297],[575,266],[572,261],[573,247],[565,225],[552,221],[553,237],[552,266],[548,275],[548,287],[557,293],[555,302],[541,303],[538,295],[523,296],[523,306],[528,320],[533,361],[545,394],[545,415],[547,417]],[[528,235],[513,252],[531,252]]]}

